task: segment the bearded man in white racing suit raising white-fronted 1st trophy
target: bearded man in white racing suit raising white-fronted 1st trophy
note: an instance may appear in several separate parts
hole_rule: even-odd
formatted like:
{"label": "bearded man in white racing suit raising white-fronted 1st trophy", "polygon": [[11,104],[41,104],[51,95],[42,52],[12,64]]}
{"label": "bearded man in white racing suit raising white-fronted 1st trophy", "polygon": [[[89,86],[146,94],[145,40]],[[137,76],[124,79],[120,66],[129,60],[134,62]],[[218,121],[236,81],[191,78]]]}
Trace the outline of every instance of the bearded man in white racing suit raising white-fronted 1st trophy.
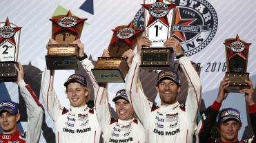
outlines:
{"label": "bearded man in white racing suit raising white-fronted 1st trophy", "polygon": [[177,95],[181,89],[177,72],[161,71],[158,74],[156,89],[159,92],[161,105],[150,102],[144,92],[138,88],[139,65],[141,64],[141,47],[150,46],[147,36],[138,39],[137,54],[126,80],[126,93],[135,112],[144,125],[147,142],[193,142],[193,133],[196,129],[196,118],[201,102],[201,81],[193,65],[182,54],[179,41],[168,39],[165,47],[173,47],[179,59],[179,64],[188,81],[188,96],[186,102],[179,104]]}

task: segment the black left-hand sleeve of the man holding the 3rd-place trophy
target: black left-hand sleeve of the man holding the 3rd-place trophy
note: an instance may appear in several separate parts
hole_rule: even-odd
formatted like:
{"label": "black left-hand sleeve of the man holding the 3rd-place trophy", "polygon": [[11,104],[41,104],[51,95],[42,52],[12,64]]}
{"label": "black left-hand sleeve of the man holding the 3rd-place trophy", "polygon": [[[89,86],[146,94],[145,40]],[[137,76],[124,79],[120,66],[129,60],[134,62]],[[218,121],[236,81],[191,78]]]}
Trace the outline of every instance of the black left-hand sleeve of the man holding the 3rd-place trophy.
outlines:
{"label": "black left-hand sleeve of the man holding the 3rd-place trophy", "polygon": [[213,125],[216,122],[216,118],[219,111],[215,111],[211,107],[208,107],[201,115],[201,120],[197,126],[197,140],[199,143],[213,143],[217,140],[213,139],[210,131],[213,129]]}

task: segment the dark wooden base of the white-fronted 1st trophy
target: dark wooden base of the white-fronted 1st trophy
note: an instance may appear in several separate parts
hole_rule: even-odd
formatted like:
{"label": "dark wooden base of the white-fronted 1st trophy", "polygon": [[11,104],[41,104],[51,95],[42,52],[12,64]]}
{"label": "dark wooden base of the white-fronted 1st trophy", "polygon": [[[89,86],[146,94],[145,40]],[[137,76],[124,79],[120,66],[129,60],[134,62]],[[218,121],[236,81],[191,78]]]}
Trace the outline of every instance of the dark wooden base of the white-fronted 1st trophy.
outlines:
{"label": "dark wooden base of the white-fronted 1st trophy", "polygon": [[141,67],[144,70],[173,69],[174,54],[168,48],[142,48]]}

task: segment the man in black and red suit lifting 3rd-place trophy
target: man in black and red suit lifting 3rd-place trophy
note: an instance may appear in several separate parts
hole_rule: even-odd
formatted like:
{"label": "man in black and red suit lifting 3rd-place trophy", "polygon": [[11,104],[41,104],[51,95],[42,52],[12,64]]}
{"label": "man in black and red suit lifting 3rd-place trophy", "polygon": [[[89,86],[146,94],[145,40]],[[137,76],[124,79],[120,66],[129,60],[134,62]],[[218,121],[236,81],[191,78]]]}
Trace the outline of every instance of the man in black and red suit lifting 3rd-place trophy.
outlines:
{"label": "man in black and red suit lifting 3rd-place trophy", "polygon": [[[256,134],[256,105],[253,100],[253,84],[251,81],[245,81],[248,85],[250,85],[250,89],[242,89],[239,91],[240,94],[245,94],[244,98],[246,103],[248,104],[249,114],[250,114],[250,122],[253,127],[254,136],[250,139],[246,139],[240,142],[244,143],[252,143],[254,142],[255,134]],[[223,78],[219,85],[219,93],[218,96],[213,102],[213,104],[206,109],[206,111],[202,114],[202,118],[197,126],[196,136],[197,142],[199,143],[217,143],[217,142],[233,142],[238,143],[238,132],[242,127],[242,122],[240,118],[240,113],[237,109],[226,108],[222,109],[219,113],[219,109],[221,107],[221,103],[228,96],[228,92],[225,90],[226,87],[229,86],[230,80],[228,78]],[[217,130],[219,131],[221,137],[220,141],[214,139],[210,133],[213,129],[213,125],[216,122],[217,115],[219,113],[219,117],[217,119]]]}

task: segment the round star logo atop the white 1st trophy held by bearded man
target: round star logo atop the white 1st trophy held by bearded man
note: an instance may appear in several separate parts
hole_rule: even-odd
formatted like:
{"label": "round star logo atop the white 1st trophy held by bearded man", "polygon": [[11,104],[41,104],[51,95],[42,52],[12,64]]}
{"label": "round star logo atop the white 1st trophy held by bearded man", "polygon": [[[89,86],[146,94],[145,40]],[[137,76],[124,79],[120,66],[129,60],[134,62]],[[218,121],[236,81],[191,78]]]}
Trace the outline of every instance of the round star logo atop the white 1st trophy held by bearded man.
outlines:
{"label": "round star logo atop the white 1st trophy held by bearded man", "polygon": [[168,14],[168,12],[169,10],[166,3],[161,3],[161,2],[152,3],[152,5],[150,5],[149,7],[149,14],[155,18],[164,17],[166,16],[166,14]]}

